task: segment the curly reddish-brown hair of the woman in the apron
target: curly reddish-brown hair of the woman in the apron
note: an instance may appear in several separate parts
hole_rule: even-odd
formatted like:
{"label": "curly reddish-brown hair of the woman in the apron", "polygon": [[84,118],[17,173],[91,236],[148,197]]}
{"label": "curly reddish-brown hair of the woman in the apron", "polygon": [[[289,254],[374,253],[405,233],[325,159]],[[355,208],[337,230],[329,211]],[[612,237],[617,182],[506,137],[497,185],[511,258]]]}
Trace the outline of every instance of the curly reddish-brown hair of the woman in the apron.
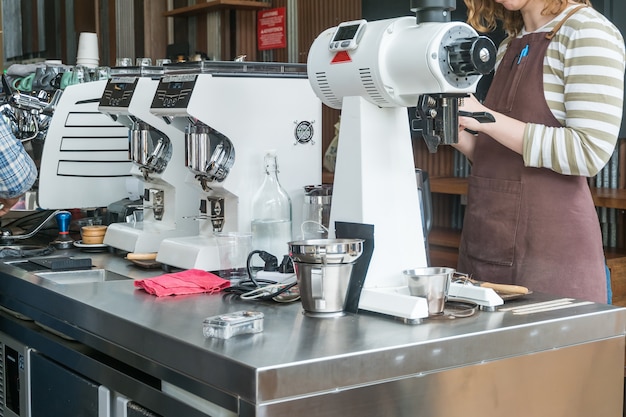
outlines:
{"label": "curly reddish-brown hair of the woman in the apron", "polygon": [[[496,29],[498,21],[502,22],[502,28],[509,36],[515,36],[524,27],[522,14],[517,11],[507,10],[494,0],[463,0],[467,6],[467,23],[478,32],[491,32]],[[575,3],[591,6],[590,0],[570,0]],[[568,0],[545,0],[543,14],[557,15],[562,12]]]}

